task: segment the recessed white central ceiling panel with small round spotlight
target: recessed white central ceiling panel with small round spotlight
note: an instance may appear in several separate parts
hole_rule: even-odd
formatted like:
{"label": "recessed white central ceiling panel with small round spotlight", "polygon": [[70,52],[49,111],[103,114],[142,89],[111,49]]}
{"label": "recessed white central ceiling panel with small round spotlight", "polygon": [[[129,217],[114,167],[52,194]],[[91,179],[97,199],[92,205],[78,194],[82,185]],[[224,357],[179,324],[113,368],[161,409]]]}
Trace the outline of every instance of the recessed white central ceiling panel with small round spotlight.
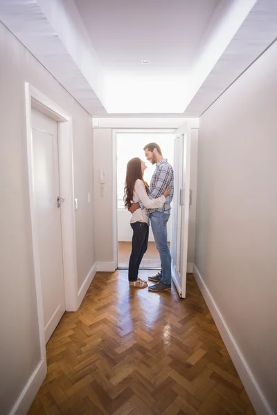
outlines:
{"label": "recessed white central ceiling panel with small round spotlight", "polygon": [[[75,0],[105,73],[184,76],[220,0]],[[149,59],[150,64],[141,61]]]}

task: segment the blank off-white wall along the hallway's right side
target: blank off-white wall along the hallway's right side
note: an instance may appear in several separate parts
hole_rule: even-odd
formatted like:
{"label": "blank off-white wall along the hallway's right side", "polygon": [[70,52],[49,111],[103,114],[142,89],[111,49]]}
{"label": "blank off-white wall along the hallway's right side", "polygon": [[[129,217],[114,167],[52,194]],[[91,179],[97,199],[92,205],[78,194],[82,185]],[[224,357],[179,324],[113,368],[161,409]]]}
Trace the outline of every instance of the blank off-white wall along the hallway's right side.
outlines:
{"label": "blank off-white wall along the hallway's right side", "polygon": [[251,398],[260,399],[261,391],[271,414],[277,414],[276,67],[277,43],[200,119],[195,244],[199,273],[258,383]]}

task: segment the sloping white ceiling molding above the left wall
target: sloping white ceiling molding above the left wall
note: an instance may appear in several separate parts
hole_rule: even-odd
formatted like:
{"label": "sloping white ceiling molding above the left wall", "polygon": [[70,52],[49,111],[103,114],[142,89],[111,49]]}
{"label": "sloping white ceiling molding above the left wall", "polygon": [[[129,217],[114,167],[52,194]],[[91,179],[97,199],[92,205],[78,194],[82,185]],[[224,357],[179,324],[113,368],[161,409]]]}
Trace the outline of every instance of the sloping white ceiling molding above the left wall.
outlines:
{"label": "sloping white ceiling molding above the left wall", "polygon": [[60,0],[1,0],[0,20],[88,113],[106,113],[98,98],[100,65],[81,35],[80,21],[78,28],[71,21],[71,15],[78,16],[73,0],[66,0],[67,6],[69,12]]}

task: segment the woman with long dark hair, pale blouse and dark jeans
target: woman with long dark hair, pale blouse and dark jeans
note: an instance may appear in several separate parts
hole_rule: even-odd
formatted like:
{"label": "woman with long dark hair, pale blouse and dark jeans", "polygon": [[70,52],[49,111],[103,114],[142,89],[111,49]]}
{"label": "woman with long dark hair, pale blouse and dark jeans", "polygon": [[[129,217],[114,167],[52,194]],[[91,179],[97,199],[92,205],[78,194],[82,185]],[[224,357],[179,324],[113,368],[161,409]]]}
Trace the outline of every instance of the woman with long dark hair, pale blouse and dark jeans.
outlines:
{"label": "woman with long dark hair, pale blouse and dark jeans", "polygon": [[[170,194],[170,187],[166,189],[163,196],[157,199],[149,199],[148,183],[143,180],[143,174],[147,166],[139,157],[132,158],[127,164],[126,181],[125,181],[125,208],[129,209],[132,203],[141,201],[145,208],[161,208],[166,202],[166,196]],[[149,234],[149,217],[145,212],[146,209],[137,209],[132,214],[130,224],[133,229],[132,252],[129,258],[129,286],[135,288],[146,288],[146,281],[138,278],[139,266],[141,259],[148,248]]]}

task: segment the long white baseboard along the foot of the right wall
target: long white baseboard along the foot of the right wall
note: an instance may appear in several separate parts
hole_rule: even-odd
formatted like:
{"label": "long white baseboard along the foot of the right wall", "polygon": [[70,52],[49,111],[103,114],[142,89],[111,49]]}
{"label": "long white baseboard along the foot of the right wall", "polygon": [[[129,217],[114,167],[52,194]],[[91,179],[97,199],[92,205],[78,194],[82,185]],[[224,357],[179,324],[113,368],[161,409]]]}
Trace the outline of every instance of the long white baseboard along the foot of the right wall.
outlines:
{"label": "long white baseboard along the foot of the right wall", "polygon": [[238,344],[235,342],[229,327],[227,326],[222,314],[220,313],[219,308],[217,307],[217,304],[215,303],[215,300],[213,299],[213,296],[208,290],[208,287],[206,286],[204,279],[202,278],[195,264],[193,264],[193,268],[193,274],[195,275],[199,289],[202,292],[211,315],[213,316],[213,320],[215,320],[217,329],[220,332],[226,349],[229,351],[229,355],[231,356],[235,369],[238,371],[240,380],[242,380],[242,384],[247,391],[249,399],[251,400],[256,413],[258,415],[274,415],[273,410],[267,402],[264,394],[262,394],[258,382],[254,378],[251,369],[247,365],[247,361],[244,359]]}

